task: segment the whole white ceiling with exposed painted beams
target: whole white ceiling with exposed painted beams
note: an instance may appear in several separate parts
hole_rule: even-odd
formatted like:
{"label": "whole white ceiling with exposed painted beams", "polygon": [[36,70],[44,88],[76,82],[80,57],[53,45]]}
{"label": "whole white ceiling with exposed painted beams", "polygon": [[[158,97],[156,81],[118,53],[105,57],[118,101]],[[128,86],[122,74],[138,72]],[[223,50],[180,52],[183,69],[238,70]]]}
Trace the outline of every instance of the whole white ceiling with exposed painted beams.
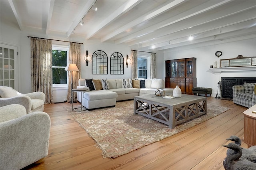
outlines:
{"label": "whole white ceiling with exposed painted beams", "polygon": [[[125,43],[137,50],[256,37],[255,0],[1,0],[1,21],[20,30]],[[97,11],[95,10],[97,8]],[[80,26],[80,22],[84,22]],[[192,36],[193,40],[188,40]],[[154,48],[152,47],[154,45]]]}

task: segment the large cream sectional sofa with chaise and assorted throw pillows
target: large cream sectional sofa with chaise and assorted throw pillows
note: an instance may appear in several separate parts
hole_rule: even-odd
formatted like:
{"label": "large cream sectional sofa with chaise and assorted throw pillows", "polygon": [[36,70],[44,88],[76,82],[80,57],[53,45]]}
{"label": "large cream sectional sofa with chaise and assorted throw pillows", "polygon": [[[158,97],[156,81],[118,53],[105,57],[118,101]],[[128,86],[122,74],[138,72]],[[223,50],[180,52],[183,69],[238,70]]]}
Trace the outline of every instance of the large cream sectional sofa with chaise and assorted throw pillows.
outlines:
{"label": "large cream sectional sofa with chaise and assorted throw pillows", "polygon": [[89,110],[114,107],[116,101],[152,95],[156,89],[164,89],[166,95],[172,95],[173,91],[171,88],[164,88],[163,79],[79,79],[77,88],[88,89],[82,93],[77,92],[77,100]]}

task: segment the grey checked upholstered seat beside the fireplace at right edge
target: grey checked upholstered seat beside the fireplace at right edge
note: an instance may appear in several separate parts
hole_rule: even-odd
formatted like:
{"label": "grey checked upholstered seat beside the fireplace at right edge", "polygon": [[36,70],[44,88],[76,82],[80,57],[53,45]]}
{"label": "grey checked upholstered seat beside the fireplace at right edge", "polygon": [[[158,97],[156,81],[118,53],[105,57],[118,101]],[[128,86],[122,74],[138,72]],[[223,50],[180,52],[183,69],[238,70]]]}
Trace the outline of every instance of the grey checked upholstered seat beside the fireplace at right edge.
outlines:
{"label": "grey checked upholstered seat beside the fireplace at right edge", "polygon": [[234,85],[232,89],[234,103],[248,108],[256,104],[256,83]]}

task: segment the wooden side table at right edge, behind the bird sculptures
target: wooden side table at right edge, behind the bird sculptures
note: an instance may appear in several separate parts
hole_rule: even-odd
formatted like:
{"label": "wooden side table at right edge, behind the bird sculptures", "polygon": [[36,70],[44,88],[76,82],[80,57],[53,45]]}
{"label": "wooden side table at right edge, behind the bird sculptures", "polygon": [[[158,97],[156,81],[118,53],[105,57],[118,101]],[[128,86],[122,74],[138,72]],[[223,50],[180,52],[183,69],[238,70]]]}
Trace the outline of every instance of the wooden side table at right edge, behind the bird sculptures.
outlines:
{"label": "wooden side table at right edge, behind the bird sculptures", "polygon": [[250,146],[256,145],[256,105],[244,111],[244,143]]}

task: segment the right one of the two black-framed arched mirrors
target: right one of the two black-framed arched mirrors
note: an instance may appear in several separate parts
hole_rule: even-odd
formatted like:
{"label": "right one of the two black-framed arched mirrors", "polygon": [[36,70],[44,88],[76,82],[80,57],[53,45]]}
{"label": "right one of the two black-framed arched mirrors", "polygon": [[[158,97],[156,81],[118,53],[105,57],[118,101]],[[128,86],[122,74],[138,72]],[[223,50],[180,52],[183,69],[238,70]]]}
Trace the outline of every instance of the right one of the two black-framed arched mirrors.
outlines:
{"label": "right one of the two black-framed arched mirrors", "polygon": [[124,74],[124,57],[114,52],[110,57],[110,74]]}

